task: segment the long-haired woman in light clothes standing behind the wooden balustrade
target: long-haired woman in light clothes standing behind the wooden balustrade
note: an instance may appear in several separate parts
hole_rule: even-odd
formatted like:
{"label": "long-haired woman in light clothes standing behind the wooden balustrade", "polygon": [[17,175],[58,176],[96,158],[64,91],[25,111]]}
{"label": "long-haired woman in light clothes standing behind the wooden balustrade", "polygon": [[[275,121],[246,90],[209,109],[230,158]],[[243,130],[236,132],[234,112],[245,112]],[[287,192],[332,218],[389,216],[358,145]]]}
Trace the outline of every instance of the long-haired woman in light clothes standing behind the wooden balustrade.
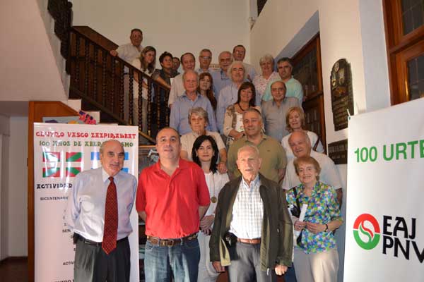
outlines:
{"label": "long-haired woman in light clothes standing behind the wooden balustrade", "polygon": [[[151,46],[147,46],[141,51],[140,58],[135,59],[132,61],[132,65],[136,68],[138,68],[140,71],[142,71],[146,75],[152,75],[155,71],[155,63],[156,63],[156,49]],[[139,78],[139,75],[134,74],[134,87],[133,87],[133,124],[139,125],[139,81],[141,78]],[[147,132],[147,97],[148,97],[148,81],[147,78],[143,78],[141,80],[141,97],[142,100],[142,106],[141,109],[141,118],[143,121],[143,132]]]}

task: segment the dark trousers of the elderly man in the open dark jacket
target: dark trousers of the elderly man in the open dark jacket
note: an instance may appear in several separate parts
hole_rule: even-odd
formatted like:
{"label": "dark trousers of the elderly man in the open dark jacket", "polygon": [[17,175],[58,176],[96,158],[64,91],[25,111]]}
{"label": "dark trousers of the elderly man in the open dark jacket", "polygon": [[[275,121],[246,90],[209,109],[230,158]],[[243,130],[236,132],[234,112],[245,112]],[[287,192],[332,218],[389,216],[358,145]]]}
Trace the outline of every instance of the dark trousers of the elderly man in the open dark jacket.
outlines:
{"label": "dark trousers of the elderly man in the open dark jacket", "polygon": [[275,282],[277,281],[274,269],[261,270],[261,244],[249,245],[237,242],[230,247],[231,264],[228,266],[230,282]]}

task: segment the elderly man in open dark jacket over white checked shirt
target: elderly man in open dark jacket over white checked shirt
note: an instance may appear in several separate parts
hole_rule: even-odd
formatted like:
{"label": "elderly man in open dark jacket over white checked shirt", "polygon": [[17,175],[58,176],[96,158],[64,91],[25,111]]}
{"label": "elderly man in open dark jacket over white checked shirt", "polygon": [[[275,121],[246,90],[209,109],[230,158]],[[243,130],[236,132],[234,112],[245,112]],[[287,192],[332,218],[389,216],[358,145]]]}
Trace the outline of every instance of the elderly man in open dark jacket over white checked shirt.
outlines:
{"label": "elderly man in open dark jacket over white checked shirt", "polygon": [[211,262],[217,272],[228,265],[230,281],[275,282],[291,264],[293,230],[285,195],[259,173],[261,162],[256,146],[238,149],[242,176],[225,184],[218,196]]}

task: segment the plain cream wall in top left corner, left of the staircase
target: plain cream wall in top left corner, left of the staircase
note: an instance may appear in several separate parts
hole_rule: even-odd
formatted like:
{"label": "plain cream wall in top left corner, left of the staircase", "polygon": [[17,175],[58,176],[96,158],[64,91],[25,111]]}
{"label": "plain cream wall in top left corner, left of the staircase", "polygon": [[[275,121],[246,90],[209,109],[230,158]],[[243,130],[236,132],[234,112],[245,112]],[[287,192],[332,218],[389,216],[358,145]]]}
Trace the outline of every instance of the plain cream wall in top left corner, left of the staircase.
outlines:
{"label": "plain cream wall in top left corner, left of the staircase", "polygon": [[67,95],[36,0],[0,1],[0,101]]}

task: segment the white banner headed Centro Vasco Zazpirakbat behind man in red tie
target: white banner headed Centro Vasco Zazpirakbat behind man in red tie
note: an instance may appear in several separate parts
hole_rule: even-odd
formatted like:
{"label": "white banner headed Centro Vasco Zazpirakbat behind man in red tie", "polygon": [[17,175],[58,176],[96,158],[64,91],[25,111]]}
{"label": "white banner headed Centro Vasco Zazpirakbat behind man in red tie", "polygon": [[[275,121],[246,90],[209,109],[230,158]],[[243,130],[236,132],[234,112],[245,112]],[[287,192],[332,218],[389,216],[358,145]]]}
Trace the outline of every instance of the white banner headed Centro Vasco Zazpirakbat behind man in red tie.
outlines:
{"label": "white banner headed Centro Vasco Zazpirakbat behind man in red tie", "polygon": [[[75,176],[100,164],[100,145],[116,139],[125,150],[123,170],[138,178],[136,126],[34,123],[35,282],[73,281],[75,245],[64,210]],[[17,223],[18,224],[18,223]],[[139,281],[139,217],[131,213],[131,282]]]}

